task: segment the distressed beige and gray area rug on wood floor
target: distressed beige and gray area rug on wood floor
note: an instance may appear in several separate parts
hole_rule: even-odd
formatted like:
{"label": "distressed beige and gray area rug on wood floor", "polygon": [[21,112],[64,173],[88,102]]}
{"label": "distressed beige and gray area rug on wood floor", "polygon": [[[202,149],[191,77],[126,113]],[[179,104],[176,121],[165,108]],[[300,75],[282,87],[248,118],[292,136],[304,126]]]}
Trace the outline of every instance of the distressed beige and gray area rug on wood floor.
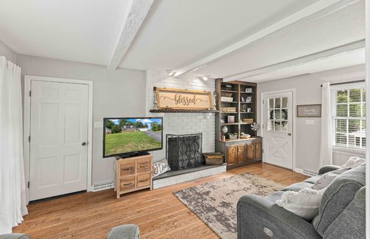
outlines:
{"label": "distressed beige and gray area rug on wood floor", "polygon": [[223,239],[237,238],[236,203],[243,195],[267,196],[283,184],[251,173],[207,182],[173,194]]}

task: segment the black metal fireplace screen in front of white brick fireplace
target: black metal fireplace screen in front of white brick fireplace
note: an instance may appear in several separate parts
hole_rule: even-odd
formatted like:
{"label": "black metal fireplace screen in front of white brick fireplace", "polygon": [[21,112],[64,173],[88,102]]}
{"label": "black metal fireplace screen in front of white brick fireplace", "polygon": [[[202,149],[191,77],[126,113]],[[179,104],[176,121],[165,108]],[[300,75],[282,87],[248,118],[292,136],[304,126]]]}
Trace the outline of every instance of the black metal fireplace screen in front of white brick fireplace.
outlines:
{"label": "black metal fireplace screen in front of white brick fireplace", "polygon": [[201,133],[190,135],[166,135],[166,157],[172,170],[200,167]]}

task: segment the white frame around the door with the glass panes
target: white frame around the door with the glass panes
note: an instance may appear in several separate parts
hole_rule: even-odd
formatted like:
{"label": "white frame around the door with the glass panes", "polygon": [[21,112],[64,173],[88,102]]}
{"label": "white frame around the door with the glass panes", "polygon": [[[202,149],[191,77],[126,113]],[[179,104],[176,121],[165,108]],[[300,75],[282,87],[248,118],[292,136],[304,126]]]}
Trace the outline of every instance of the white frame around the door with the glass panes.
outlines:
{"label": "white frame around the door with the glass panes", "polygon": [[[264,115],[264,102],[263,102],[263,99],[264,99],[264,96],[265,95],[268,95],[268,94],[276,94],[276,93],[284,93],[284,92],[291,92],[292,93],[292,120],[293,120],[293,126],[292,126],[292,130],[293,130],[293,152],[292,152],[292,158],[293,158],[293,165],[292,165],[292,170],[293,171],[296,171],[296,168],[295,168],[295,145],[297,145],[296,143],[296,130],[295,130],[295,115],[296,115],[296,101],[295,101],[295,88],[292,88],[292,89],[282,89],[282,90],[276,90],[276,91],[271,91],[271,92],[261,92],[261,95],[260,95],[260,124],[263,125],[264,124],[264,121],[263,121],[263,115]],[[261,137],[263,137],[263,133],[264,133],[264,127],[261,127]],[[264,142],[264,141],[262,141]],[[262,148],[263,148],[263,145],[262,145]],[[264,160],[264,152],[262,152],[262,162],[265,162]]]}

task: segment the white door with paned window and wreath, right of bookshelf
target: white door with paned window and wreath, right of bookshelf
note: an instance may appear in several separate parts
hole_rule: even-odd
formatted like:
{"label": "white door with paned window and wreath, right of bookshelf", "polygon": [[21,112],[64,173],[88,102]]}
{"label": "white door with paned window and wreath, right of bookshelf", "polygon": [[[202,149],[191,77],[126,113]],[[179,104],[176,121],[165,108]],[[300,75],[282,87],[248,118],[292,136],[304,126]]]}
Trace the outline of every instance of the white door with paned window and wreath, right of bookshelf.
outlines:
{"label": "white door with paned window and wreath, right of bookshelf", "polygon": [[264,161],[293,169],[293,92],[264,94]]}

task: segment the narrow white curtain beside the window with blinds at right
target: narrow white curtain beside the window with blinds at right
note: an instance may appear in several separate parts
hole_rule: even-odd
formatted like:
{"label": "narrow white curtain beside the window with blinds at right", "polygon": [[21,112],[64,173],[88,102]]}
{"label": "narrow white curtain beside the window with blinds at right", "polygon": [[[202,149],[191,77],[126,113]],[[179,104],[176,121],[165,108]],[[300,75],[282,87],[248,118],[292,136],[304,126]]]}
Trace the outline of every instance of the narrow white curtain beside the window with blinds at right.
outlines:
{"label": "narrow white curtain beside the window with blinds at right", "polygon": [[330,83],[323,83],[321,98],[321,148],[319,166],[332,165],[332,105],[330,102]]}

